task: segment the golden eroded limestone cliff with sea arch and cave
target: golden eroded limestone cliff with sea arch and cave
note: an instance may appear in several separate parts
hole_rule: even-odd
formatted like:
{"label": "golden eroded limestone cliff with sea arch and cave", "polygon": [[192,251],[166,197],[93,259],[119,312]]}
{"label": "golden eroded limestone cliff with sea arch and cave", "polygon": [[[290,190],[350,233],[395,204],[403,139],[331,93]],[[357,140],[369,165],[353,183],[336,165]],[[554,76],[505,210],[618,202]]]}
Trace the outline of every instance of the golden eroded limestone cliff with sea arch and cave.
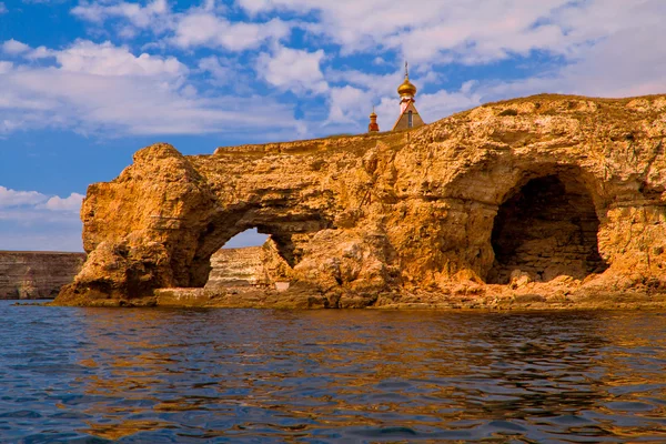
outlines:
{"label": "golden eroded limestone cliff with sea arch and cave", "polygon": [[90,255],[57,302],[202,287],[211,255],[250,228],[271,234],[284,297],[327,306],[664,294],[665,139],[666,95],[536,95],[405,132],[195,157],[155,144],[89,188]]}

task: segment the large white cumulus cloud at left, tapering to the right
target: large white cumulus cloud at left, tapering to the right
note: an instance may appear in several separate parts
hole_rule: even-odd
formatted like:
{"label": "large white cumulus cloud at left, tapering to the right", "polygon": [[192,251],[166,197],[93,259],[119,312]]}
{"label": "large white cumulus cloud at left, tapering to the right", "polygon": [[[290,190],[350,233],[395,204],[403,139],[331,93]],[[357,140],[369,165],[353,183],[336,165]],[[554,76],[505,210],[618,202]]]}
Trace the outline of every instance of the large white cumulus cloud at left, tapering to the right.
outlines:
{"label": "large white cumulus cloud at left, tapering to the right", "polygon": [[[63,128],[82,133],[201,134],[296,128],[287,105],[259,97],[203,97],[175,58],[133,56],[125,47],[80,40],[30,50],[56,65],[9,65],[0,74],[0,133]],[[43,54],[43,56],[42,56]]]}

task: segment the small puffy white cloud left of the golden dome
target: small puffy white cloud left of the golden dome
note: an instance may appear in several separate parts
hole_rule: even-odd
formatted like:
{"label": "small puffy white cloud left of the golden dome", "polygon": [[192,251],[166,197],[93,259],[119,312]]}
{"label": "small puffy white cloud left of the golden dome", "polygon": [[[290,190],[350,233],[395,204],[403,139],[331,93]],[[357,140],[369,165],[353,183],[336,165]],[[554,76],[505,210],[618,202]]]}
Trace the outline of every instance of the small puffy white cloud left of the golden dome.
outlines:
{"label": "small puffy white cloud left of the golden dome", "polygon": [[266,82],[295,93],[323,93],[329,90],[321,70],[324,51],[307,52],[285,47],[263,52],[256,61],[256,72]]}

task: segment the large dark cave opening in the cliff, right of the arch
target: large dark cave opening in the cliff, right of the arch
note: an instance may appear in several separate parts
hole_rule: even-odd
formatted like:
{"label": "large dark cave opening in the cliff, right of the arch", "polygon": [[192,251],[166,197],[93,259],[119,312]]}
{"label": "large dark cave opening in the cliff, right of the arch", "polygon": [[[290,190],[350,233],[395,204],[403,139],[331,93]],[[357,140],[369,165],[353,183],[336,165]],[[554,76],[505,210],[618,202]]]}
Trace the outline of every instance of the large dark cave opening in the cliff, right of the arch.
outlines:
{"label": "large dark cave opening in the cliff, right of the arch", "polygon": [[497,211],[487,282],[507,284],[517,270],[537,282],[601,273],[607,264],[598,252],[598,228],[592,196],[577,178],[532,179]]}

